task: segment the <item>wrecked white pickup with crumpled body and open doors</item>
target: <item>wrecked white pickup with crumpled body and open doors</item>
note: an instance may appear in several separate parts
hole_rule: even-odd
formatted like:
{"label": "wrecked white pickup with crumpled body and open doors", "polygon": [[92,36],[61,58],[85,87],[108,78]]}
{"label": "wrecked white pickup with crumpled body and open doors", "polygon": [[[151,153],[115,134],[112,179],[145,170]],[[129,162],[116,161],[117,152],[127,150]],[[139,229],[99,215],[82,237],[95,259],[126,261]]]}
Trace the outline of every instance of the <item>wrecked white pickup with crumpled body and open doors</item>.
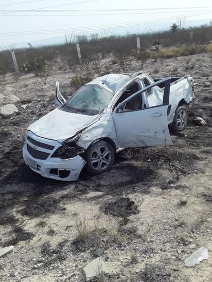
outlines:
{"label": "wrecked white pickup with crumpled body and open doors", "polygon": [[32,123],[23,157],[36,173],[77,180],[112,166],[121,148],[172,145],[168,125],[182,130],[194,99],[193,79],[153,80],[146,73],[107,74],[77,90],[67,101],[56,87],[56,108]]}

